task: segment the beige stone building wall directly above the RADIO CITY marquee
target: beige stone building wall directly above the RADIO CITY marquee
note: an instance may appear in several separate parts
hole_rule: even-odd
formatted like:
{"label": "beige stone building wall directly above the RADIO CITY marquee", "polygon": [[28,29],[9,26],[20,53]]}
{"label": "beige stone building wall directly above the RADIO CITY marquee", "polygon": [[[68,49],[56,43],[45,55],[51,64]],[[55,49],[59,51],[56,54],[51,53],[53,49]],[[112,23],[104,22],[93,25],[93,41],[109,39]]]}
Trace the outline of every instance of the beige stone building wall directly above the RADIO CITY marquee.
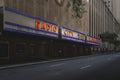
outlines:
{"label": "beige stone building wall directly above the RADIO CITY marquee", "polygon": [[[87,34],[89,31],[88,12],[84,13],[82,19],[76,19],[72,17],[73,11],[71,7],[67,9],[67,4],[70,2],[69,0],[63,0],[62,5],[59,5],[57,1],[58,0],[29,0],[28,2],[28,0],[5,0],[5,6]],[[88,3],[86,0],[82,2],[86,4],[85,10],[88,11]]]}

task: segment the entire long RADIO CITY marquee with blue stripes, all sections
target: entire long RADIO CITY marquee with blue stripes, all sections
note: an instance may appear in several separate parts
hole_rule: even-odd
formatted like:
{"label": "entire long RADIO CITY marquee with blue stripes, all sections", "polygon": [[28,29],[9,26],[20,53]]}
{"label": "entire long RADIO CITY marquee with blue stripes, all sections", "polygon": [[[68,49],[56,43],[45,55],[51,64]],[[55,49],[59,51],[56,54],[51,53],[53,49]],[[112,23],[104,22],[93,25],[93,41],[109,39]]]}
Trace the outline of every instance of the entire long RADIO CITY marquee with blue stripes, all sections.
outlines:
{"label": "entire long RADIO CITY marquee with blue stripes, all sections", "polygon": [[58,34],[62,40],[81,42],[92,45],[100,45],[101,41],[92,36],[85,35],[81,32],[61,27],[57,24],[36,18],[17,10],[5,7],[4,10],[4,30],[18,32],[37,36],[46,36],[50,38],[58,38]]}

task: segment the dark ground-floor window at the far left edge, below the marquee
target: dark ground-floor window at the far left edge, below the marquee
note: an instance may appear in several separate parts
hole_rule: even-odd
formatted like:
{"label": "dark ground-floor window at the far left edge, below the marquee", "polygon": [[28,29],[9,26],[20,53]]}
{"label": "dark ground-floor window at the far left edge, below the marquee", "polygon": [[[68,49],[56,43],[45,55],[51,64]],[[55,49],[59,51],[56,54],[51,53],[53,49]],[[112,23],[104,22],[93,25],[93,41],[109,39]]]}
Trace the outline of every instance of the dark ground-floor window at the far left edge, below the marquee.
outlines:
{"label": "dark ground-floor window at the far left edge, below the marquee", "polygon": [[0,57],[8,57],[8,44],[0,43]]}

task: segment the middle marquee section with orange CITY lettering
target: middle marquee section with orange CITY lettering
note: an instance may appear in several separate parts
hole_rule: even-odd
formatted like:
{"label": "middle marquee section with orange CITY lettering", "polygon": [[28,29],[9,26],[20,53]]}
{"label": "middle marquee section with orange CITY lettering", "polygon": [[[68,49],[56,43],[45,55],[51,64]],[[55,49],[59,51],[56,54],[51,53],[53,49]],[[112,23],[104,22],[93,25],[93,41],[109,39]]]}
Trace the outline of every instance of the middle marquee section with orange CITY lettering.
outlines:
{"label": "middle marquee section with orange CITY lettering", "polygon": [[62,27],[62,39],[85,43],[86,36],[80,32]]}

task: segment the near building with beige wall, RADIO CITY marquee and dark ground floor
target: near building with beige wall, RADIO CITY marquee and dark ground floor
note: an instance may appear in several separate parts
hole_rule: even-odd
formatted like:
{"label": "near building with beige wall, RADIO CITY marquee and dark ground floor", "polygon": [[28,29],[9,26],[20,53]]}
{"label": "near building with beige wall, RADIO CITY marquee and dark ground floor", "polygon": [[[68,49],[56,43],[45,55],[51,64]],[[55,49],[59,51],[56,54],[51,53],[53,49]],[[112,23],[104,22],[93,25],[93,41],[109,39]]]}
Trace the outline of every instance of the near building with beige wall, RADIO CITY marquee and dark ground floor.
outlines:
{"label": "near building with beige wall, RADIO CITY marquee and dark ground floor", "polygon": [[88,55],[100,45],[89,34],[86,0],[81,18],[74,17],[69,0],[0,1],[1,63]]}

